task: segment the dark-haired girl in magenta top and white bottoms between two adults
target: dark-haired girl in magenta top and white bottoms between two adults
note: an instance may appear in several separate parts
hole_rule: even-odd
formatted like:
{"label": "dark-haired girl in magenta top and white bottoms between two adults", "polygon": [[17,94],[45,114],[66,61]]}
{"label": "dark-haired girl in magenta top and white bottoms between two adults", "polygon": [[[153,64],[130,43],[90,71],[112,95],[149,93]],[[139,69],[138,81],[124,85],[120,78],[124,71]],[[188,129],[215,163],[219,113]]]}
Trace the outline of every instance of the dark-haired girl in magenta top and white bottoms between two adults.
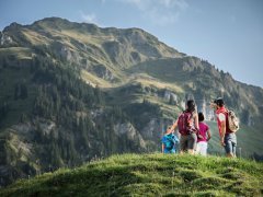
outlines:
{"label": "dark-haired girl in magenta top and white bottoms between two adults", "polygon": [[196,154],[207,155],[207,142],[209,141],[211,135],[208,125],[204,123],[204,114],[198,113],[199,120],[199,131],[197,135],[197,146],[196,146]]}

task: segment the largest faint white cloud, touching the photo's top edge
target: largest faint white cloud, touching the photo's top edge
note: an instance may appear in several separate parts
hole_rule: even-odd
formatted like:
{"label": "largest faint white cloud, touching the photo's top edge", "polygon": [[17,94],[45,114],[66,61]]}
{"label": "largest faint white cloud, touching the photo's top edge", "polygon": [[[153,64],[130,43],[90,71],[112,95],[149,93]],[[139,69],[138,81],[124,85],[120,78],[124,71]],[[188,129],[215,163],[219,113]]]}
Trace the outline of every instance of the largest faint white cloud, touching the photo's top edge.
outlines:
{"label": "largest faint white cloud, touching the photo's top edge", "polygon": [[186,0],[117,0],[136,7],[145,20],[163,26],[173,24],[180,14],[187,9]]}

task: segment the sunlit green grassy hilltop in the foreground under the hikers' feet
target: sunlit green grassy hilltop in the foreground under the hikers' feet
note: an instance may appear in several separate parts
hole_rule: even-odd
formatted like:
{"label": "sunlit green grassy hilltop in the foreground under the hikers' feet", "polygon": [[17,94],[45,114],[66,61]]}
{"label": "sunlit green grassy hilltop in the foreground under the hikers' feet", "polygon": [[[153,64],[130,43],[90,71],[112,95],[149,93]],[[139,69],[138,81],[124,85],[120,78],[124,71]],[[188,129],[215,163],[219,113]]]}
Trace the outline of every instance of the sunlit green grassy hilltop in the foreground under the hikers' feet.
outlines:
{"label": "sunlit green grassy hilltop in the foreground under the hikers' feet", "polygon": [[124,154],[19,181],[0,196],[261,196],[263,163],[217,157]]}

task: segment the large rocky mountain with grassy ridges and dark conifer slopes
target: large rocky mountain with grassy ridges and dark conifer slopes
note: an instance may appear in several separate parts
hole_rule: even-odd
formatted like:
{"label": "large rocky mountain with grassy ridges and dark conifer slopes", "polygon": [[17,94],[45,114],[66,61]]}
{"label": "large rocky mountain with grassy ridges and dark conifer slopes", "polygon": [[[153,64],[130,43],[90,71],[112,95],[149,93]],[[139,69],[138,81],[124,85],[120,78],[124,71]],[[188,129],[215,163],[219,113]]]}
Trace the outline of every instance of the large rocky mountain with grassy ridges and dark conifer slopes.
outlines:
{"label": "large rocky mountain with grassy ridges and dark conifer slopes", "polygon": [[221,154],[209,101],[241,119],[239,154],[262,159],[263,90],[139,28],[48,18],[0,33],[0,185],[94,158],[160,151],[194,99]]}

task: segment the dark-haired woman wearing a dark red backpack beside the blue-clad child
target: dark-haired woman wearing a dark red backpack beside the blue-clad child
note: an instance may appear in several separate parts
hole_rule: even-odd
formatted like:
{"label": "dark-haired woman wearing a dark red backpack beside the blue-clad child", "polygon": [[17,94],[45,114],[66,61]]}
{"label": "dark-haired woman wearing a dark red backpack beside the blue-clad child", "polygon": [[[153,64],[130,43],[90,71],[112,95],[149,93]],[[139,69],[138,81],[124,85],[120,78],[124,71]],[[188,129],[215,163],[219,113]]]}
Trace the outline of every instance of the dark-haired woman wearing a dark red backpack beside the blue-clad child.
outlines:
{"label": "dark-haired woman wearing a dark red backpack beside the blue-clad child", "polygon": [[186,102],[186,109],[179,116],[171,130],[179,127],[180,132],[180,153],[188,152],[194,154],[197,142],[198,115],[193,100]]}

